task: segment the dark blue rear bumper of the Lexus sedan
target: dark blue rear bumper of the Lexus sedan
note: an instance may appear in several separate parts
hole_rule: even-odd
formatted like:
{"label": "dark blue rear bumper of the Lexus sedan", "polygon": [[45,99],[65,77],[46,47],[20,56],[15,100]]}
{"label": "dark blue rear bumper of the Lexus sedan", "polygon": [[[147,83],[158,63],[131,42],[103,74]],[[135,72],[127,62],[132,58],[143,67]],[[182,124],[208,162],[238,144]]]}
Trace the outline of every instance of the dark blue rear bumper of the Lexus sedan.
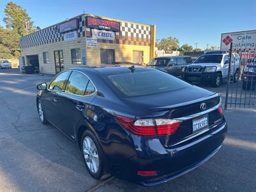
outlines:
{"label": "dark blue rear bumper of the Lexus sedan", "polygon": [[[116,167],[122,179],[128,179],[143,186],[154,186],[175,179],[191,172],[201,164],[209,160],[221,147],[227,132],[227,124],[223,123],[213,131],[209,131],[192,141],[186,141],[180,145],[163,148],[157,146],[157,142],[148,141],[148,157],[142,157],[140,153]],[[161,143],[159,143],[161,145]],[[157,151],[156,151],[157,148]],[[140,176],[137,172],[156,170],[157,175]]]}

